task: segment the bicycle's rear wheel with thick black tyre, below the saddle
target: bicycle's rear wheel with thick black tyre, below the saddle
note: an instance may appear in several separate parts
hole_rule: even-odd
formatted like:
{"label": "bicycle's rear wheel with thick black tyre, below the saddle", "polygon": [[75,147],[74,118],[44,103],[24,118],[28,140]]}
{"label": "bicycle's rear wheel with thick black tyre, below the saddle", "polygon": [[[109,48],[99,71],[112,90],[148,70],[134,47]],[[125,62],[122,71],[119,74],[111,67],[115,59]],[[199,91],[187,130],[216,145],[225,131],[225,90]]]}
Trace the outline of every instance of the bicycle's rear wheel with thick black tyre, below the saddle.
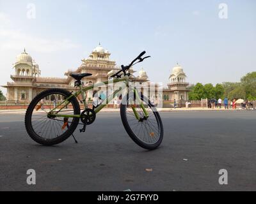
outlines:
{"label": "bicycle's rear wheel with thick black tyre, below the saddle", "polygon": [[[48,89],[38,94],[29,104],[25,115],[28,135],[42,145],[56,145],[66,140],[77,128],[79,118],[48,117],[54,107],[70,96],[64,89]],[[63,115],[80,115],[76,98],[70,98],[69,104],[56,109]],[[63,108],[62,110],[60,110]]]}

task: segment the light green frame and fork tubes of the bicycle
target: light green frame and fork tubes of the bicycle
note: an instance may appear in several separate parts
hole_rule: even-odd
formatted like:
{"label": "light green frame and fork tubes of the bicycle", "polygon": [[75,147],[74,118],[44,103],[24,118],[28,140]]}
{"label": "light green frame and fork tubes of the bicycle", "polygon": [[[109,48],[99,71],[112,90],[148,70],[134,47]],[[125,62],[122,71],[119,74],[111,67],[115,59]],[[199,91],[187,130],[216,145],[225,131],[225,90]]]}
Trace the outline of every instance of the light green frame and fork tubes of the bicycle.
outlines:
{"label": "light green frame and fork tubes of the bicycle", "polygon": [[[81,94],[82,98],[83,98],[83,104],[84,104],[84,108],[88,108],[88,104],[86,103],[86,91],[89,91],[91,89],[93,89],[94,87],[100,87],[102,86],[102,84],[104,85],[108,85],[108,84],[116,84],[118,82],[124,82],[125,86],[119,87],[118,90],[115,90],[113,92],[113,94],[111,94],[110,96],[108,96],[99,106],[97,106],[97,108],[95,108],[95,113],[99,113],[100,110],[102,110],[102,108],[104,108],[106,105],[108,105],[109,101],[112,101],[113,98],[115,98],[116,94],[118,94],[118,92],[123,91],[124,89],[129,89],[129,77],[128,76],[124,76],[122,78],[116,78],[113,79],[111,81],[106,81],[106,82],[100,82],[97,83],[95,85],[91,85],[89,87],[83,87],[83,85],[79,85],[79,91],[75,92],[74,94],[71,94],[70,96],[68,96],[68,98],[66,98],[63,102],[61,102],[59,105],[57,105],[54,109],[52,109],[48,114],[51,117],[67,117],[67,118],[80,118],[81,115],[65,115],[65,114],[58,114],[61,110],[63,110],[63,108],[65,108],[65,106],[67,106],[70,101],[69,99],[72,97],[77,97],[79,96],[79,94]],[[132,90],[135,93],[136,99],[138,101],[140,101],[140,106],[143,110],[143,112],[145,113],[145,116],[148,117],[148,112],[145,109],[145,106],[143,105],[143,102],[140,99],[140,94],[138,93],[138,90],[136,89],[136,87],[134,87],[134,89]],[[63,106],[60,108],[60,106]],[[60,110],[57,110],[58,108],[60,108]],[[132,106],[132,110],[134,112],[134,115],[136,117],[136,119],[140,119],[140,116],[136,110],[136,108],[134,106]]]}

